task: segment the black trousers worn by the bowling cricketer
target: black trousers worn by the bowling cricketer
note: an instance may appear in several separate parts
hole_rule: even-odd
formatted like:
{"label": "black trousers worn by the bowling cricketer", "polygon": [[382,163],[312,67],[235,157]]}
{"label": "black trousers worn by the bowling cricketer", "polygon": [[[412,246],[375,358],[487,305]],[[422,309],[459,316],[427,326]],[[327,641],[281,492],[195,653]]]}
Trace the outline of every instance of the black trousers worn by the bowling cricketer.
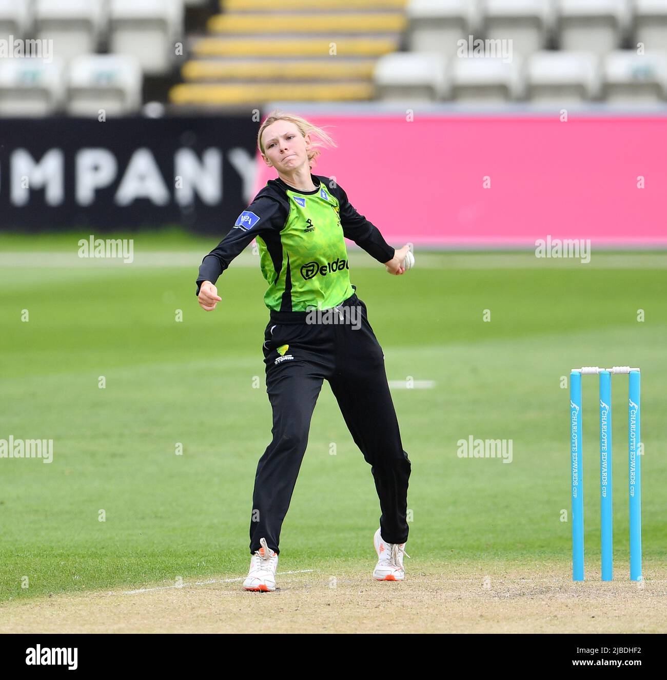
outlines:
{"label": "black trousers worn by the bowling cricketer", "polygon": [[[266,327],[263,352],[266,391],[273,408],[273,441],[257,464],[250,553],[259,550],[262,538],[280,552],[282,520],[306,452],[310,418],[324,379],[329,381],[355,443],[371,465],[380,498],[383,539],[387,543],[408,540],[410,459],[403,450],[389,394],[385,356],[368,323],[366,305],[357,294],[336,309],[338,323],[308,323],[306,312],[272,311]],[[329,321],[334,313],[329,313]]]}

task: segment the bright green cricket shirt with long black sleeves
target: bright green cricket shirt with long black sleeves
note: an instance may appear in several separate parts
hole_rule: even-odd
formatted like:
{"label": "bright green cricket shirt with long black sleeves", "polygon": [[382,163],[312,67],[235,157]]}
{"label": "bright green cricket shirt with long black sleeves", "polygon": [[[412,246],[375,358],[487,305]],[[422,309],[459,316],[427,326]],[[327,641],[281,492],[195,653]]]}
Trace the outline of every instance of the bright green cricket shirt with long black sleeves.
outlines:
{"label": "bright green cricket shirt with long black sleeves", "polygon": [[329,309],[354,294],[345,238],[378,262],[393,258],[374,224],[359,215],[340,185],[311,175],[316,188],[299,191],[269,180],[234,227],[201,262],[203,281],[215,284],[235,256],[257,239],[259,262],[268,288],[265,305],[276,311]]}

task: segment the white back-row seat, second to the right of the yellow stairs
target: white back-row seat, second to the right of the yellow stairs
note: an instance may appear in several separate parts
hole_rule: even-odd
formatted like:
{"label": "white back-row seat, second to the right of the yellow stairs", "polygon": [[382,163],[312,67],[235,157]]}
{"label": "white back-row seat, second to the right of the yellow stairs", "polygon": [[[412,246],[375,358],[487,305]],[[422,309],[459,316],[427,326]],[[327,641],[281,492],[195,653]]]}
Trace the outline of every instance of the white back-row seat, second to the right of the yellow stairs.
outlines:
{"label": "white back-row seat, second to the right of the yellow stairs", "polygon": [[543,50],[553,31],[551,0],[485,0],[483,35],[490,40],[512,40],[515,54]]}

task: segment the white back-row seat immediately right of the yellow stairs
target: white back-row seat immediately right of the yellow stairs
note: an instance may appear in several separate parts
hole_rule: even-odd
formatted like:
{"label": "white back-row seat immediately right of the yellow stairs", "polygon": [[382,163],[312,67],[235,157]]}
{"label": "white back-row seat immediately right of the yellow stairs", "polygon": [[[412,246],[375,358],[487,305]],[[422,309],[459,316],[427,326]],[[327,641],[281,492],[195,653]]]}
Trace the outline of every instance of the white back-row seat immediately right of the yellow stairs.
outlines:
{"label": "white back-row seat immediately right of the yellow stairs", "polygon": [[455,56],[457,41],[479,30],[478,0],[410,0],[408,49]]}

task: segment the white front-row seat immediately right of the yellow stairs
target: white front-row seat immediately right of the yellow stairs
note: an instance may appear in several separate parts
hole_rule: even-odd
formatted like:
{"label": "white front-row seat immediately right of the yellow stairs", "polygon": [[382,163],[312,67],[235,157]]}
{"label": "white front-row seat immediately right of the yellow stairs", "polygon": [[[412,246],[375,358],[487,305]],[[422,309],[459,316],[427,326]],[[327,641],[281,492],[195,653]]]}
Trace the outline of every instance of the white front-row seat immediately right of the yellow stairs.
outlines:
{"label": "white front-row seat immediately right of the yellow stairs", "polygon": [[449,98],[446,73],[441,52],[395,52],[378,59],[374,80],[380,99],[436,101]]}

